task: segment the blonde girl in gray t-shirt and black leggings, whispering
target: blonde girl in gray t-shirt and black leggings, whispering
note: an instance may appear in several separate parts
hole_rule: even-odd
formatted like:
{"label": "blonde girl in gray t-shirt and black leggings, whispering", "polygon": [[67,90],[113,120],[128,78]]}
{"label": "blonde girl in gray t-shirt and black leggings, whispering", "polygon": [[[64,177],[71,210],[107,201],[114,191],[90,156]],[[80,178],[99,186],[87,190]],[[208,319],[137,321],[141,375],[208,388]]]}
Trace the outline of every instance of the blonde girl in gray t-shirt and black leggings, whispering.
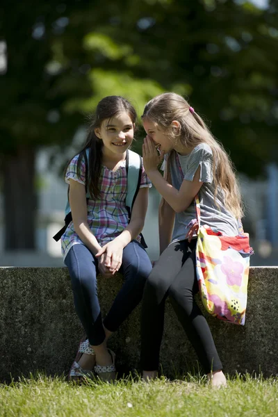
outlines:
{"label": "blonde girl in gray t-shirt and black leggings, whispering", "polygon": [[[165,298],[169,295],[183,329],[213,386],[225,385],[222,363],[211,331],[197,306],[197,240],[186,238],[196,218],[199,195],[201,224],[226,236],[238,234],[241,199],[233,165],[203,120],[183,97],[164,93],[145,106],[147,133],[144,167],[163,199],[159,210],[161,256],[147,279],[142,300],[141,361],[143,378],[156,377],[163,334]],[[158,165],[163,160],[163,171]]]}

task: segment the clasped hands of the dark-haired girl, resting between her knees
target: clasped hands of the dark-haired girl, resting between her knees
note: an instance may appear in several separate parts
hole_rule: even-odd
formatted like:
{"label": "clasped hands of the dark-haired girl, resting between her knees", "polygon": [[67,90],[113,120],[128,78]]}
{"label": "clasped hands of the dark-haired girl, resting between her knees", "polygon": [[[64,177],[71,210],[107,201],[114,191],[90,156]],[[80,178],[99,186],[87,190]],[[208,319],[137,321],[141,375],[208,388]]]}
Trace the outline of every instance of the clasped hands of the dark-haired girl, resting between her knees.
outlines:
{"label": "clasped hands of the dark-haired girl, resting between her knees", "polygon": [[123,247],[120,243],[112,240],[97,252],[95,256],[99,260],[99,272],[103,277],[111,277],[120,270],[122,265],[122,251]]}

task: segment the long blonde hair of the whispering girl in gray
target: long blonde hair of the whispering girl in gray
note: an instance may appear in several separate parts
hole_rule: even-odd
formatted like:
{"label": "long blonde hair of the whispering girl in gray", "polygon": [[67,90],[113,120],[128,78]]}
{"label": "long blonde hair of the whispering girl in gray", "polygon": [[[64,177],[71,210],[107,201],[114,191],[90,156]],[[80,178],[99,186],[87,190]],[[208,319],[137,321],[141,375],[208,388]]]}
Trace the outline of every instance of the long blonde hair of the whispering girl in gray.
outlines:
{"label": "long blonde hair of the whispering girl in gray", "polygon": [[[158,128],[161,127],[172,140],[179,140],[182,145],[188,148],[195,147],[199,143],[209,145],[213,152],[215,200],[220,186],[224,191],[224,205],[226,208],[236,218],[243,217],[243,204],[234,165],[222,144],[213,138],[202,117],[197,115],[193,108],[190,108],[186,99],[174,92],[165,92],[158,95],[146,104],[142,118],[152,121]],[[178,131],[172,128],[173,120],[179,122]],[[167,158],[167,172],[170,172],[171,157],[170,154]]]}

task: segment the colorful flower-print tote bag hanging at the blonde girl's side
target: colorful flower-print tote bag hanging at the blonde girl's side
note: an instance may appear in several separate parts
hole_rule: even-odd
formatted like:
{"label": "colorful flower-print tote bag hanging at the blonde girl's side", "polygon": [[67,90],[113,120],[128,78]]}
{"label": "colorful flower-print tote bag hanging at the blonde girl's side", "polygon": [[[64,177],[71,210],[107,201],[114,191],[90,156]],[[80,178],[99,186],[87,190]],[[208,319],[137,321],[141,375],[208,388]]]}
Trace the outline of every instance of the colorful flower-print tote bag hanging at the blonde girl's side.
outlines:
{"label": "colorful flower-print tote bag hanging at the blonde girl's side", "polygon": [[190,239],[197,233],[196,268],[199,292],[208,313],[236,325],[245,324],[250,264],[249,235],[222,236],[220,231],[201,226],[199,199],[195,197],[197,220],[188,224]]}

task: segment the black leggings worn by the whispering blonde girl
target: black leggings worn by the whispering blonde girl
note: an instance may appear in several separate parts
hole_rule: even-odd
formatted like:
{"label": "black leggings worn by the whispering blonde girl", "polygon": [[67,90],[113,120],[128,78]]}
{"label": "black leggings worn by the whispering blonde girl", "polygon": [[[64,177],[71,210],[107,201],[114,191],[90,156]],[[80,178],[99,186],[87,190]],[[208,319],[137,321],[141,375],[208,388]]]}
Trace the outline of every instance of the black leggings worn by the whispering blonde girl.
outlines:
{"label": "black leggings worn by the whispering blonde girl", "polygon": [[167,296],[206,373],[222,369],[211,330],[197,306],[196,240],[172,243],[154,266],[142,299],[143,370],[158,370]]}

